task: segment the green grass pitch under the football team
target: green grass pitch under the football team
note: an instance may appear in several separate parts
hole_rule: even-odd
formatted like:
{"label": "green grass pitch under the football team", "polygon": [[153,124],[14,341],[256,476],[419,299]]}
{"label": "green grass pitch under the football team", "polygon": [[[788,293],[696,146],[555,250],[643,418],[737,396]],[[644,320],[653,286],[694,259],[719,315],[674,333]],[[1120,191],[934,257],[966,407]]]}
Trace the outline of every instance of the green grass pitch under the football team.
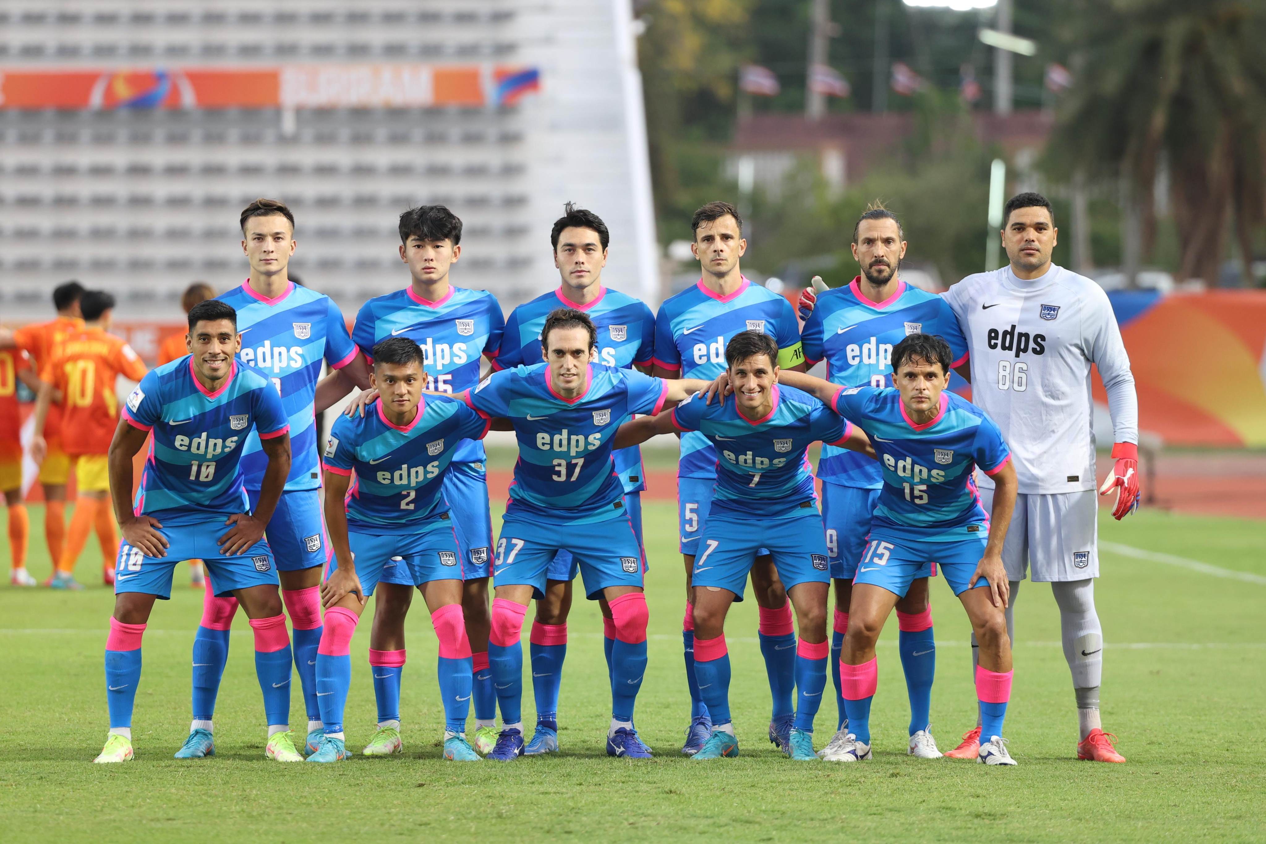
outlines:
{"label": "green grass pitch under the football team", "polygon": [[[43,578],[42,514],[33,509],[32,571]],[[1051,591],[1019,595],[1015,687],[1006,733],[1019,767],[905,755],[909,710],[895,624],[880,645],[875,759],[793,763],[765,733],[768,691],[756,609],[728,625],[742,755],[695,763],[677,753],[689,714],[681,669],[682,572],[671,504],[648,502],[651,662],[637,723],[657,752],[609,759],[609,693],[596,606],[579,600],[562,687],[557,757],[511,764],[441,759],[436,643],[415,601],[401,700],[405,754],[334,766],[263,759],[252,640],[237,619],[216,712],[218,755],[176,762],[189,726],[190,645],[200,593],[177,571],[144,643],[133,726],[137,758],[94,766],[106,731],[101,650],[113,599],[84,554],[81,593],[0,587],[0,840],[1261,840],[1266,764],[1256,739],[1266,700],[1266,559],[1262,523],[1143,511],[1101,538],[1248,572],[1233,580],[1105,552],[1098,602],[1108,642],[1104,726],[1124,766],[1077,762],[1076,715]],[[8,549],[0,552],[8,559]],[[974,721],[967,625],[933,586],[939,661],[933,728],[942,749]],[[352,643],[348,747],[375,719],[368,625]],[[524,636],[525,638],[525,636]],[[530,671],[530,668],[529,668]],[[525,680],[529,690],[530,678]],[[292,724],[303,729],[296,693]],[[830,685],[817,744],[834,728]],[[530,723],[530,691],[525,691]]]}

